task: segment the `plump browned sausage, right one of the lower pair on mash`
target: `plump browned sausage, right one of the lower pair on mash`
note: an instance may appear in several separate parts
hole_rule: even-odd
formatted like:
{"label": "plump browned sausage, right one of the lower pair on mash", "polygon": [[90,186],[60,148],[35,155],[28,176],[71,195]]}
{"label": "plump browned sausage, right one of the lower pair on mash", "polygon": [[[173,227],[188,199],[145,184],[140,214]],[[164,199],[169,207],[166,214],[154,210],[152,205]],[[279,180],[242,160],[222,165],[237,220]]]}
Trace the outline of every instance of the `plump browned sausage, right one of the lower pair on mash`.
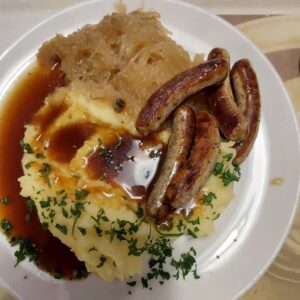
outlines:
{"label": "plump browned sausage, right one of the lower pair on mash", "polygon": [[220,133],[209,113],[196,114],[194,145],[189,158],[172,178],[166,199],[173,208],[183,208],[211,176],[219,154]]}

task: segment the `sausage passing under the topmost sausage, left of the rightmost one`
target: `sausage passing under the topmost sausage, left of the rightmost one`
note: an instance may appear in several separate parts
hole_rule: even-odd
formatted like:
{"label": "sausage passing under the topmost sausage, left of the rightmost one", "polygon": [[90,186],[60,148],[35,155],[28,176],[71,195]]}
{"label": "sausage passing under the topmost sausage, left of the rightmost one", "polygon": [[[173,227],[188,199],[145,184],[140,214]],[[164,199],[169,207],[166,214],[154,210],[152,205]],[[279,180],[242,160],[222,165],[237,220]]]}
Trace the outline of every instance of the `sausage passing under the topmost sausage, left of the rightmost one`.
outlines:
{"label": "sausage passing under the topmost sausage, left of the rightmost one", "polygon": [[[208,60],[222,58],[230,65],[229,53],[222,48],[214,48]],[[243,111],[237,105],[230,86],[230,76],[223,83],[208,90],[208,107],[216,118],[223,135],[233,141],[241,141],[248,132],[248,123]]]}

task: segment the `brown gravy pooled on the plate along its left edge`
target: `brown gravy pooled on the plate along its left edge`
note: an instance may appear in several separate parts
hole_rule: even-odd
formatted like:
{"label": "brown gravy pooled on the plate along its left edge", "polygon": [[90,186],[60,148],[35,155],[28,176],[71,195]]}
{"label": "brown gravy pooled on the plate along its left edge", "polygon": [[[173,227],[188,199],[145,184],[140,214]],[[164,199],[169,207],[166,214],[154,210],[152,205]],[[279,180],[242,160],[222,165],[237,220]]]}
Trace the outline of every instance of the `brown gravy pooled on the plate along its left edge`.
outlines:
{"label": "brown gravy pooled on the plate along its left edge", "polygon": [[[63,85],[64,78],[57,69],[51,72],[34,67],[16,84],[0,112],[0,200],[9,197],[8,205],[0,202],[0,221],[9,220],[12,236],[20,236],[34,243],[38,248],[37,264],[54,274],[62,273],[65,278],[76,278],[86,274],[85,266],[79,262],[70,249],[50,232],[43,230],[35,211],[30,213],[26,200],[20,196],[17,179],[23,175],[21,158],[23,150],[20,141],[24,136],[24,124],[31,121],[33,114],[42,106],[45,97],[55,87]],[[47,127],[59,111],[44,119]],[[27,221],[26,221],[27,219]]]}

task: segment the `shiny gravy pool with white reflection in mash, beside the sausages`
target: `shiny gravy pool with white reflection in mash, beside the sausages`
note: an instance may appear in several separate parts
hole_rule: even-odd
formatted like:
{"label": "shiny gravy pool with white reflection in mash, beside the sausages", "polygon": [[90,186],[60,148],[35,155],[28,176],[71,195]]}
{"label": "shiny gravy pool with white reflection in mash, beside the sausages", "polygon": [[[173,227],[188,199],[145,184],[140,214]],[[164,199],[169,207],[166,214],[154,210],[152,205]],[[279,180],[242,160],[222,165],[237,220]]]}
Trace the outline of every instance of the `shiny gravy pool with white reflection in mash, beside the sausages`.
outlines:
{"label": "shiny gravy pool with white reflection in mash, beside the sausages", "polygon": [[159,167],[163,144],[154,137],[122,135],[111,145],[101,145],[87,160],[92,179],[121,186],[135,200],[145,200]]}

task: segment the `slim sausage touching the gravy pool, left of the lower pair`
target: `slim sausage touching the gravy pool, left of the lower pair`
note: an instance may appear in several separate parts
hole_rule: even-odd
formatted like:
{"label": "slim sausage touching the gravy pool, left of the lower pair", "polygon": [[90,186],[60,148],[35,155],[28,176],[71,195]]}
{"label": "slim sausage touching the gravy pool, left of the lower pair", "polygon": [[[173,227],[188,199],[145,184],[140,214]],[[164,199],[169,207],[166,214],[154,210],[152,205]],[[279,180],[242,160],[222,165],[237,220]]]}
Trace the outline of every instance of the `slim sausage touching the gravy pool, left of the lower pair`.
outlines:
{"label": "slim sausage touching the gravy pool, left of the lower pair", "polygon": [[165,201],[167,186],[188,157],[195,129],[195,113],[190,107],[179,107],[174,112],[171,137],[160,175],[146,201],[146,213],[155,220],[163,220],[169,207]]}

